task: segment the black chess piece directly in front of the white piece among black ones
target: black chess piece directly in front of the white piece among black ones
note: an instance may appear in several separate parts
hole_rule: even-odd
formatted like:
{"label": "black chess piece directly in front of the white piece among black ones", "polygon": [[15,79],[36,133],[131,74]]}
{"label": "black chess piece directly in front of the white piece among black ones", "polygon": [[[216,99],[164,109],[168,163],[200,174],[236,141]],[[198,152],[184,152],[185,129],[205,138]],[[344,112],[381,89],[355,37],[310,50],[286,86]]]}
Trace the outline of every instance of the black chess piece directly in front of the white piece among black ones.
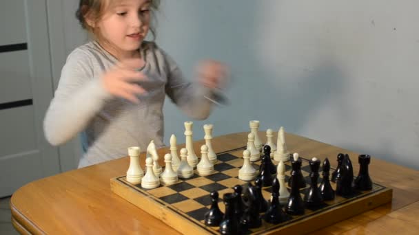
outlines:
{"label": "black chess piece directly in front of the white piece among black ones", "polygon": [[273,224],[287,220],[287,215],[283,212],[283,208],[279,203],[279,181],[276,178],[272,182],[272,202],[265,213],[264,219],[267,223]]}

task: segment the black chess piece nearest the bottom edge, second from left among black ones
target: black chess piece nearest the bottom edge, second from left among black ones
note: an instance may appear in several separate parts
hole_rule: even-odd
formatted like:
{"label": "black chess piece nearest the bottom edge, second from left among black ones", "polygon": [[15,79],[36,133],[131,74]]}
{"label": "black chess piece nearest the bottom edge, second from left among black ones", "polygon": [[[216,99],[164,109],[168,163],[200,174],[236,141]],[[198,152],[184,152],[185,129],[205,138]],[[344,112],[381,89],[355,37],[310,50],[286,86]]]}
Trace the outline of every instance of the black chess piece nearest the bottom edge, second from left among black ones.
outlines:
{"label": "black chess piece nearest the bottom edge, second from left among black ones", "polygon": [[237,194],[226,193],[223,197],[225,205],[225,214],[223,221],[220,223],[221,234],[240,234],[238,231],[238,219],[234,215],[234,207],[236,205]]}

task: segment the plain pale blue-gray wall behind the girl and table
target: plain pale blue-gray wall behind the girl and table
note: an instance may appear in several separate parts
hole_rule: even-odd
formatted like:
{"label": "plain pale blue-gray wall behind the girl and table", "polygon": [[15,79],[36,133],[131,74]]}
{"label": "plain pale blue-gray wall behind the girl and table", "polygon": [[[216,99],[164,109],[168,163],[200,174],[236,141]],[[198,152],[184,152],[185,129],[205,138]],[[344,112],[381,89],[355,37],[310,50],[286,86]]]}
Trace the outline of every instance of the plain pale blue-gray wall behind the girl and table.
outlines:
{"label": "plain pale blue-gray wall behind the girl and table", "polygon": [[[256,119],[418,169],[416,9],[413,0],[166,0],[158,42],[188,78],[203,58],[231,67],[231,105],[194,122],[195,139],[207,122],[223,135]],[[76,45],[79,25],[66,27]],[[171,133],[184,142],[185,120],[167,102],[167,144]]]}

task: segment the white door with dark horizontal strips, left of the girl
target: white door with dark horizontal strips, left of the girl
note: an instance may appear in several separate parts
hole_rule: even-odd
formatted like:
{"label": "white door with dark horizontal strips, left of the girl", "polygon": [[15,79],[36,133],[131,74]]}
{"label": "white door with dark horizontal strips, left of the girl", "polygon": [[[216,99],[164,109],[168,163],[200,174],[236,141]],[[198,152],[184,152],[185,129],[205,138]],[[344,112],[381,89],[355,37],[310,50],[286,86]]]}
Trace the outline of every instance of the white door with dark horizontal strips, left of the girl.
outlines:
{"label": "white door with dark horizontal strips, left of the girl", "polygon": [[42,122],[53,95],[46,0],[0,1],[0,197],[60,172]]}

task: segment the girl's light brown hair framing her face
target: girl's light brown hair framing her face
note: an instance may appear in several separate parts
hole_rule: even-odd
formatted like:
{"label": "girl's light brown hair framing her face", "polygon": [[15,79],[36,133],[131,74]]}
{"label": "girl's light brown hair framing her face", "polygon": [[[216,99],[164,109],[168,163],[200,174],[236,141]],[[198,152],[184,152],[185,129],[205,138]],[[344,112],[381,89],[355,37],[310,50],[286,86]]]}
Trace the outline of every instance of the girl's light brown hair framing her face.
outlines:
{"label": "girl's light brown hair framing her face", "polygon": [[[94,32],[94,28],[92,28],[86,21],[86,17],[91,17],[95,23],[97,23],[103,13],[105,12],[105,8],[108,7],[110,4],[109,1],[114,0],[80,0],[79,9],[76,11],[76,18],[79,20],[81,27],[83,29],[88,30],[90,33],[97,36]],[[108,3],[108,4],[106,4]],[[160,0],[150,0],[151,11],[156,12],[159,10]],[[152,14],[154,18],[155,14]],[[154,19],[155,20],[155,19]],[[150,24],[150,32],[152,33],[153,39],[156,38],[156,28],[154,27],[154,22]]]}

